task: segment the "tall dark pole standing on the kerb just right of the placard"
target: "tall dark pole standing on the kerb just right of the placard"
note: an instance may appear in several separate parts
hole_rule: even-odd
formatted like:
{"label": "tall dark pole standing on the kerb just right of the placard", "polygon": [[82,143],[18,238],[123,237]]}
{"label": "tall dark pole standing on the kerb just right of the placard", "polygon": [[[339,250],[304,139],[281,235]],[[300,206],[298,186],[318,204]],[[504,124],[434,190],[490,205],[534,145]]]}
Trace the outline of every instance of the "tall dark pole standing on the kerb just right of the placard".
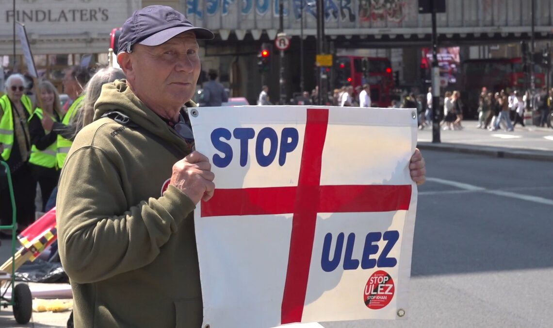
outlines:
{"label": "tall dark pole standing on the kerb just right of the placard", "polygon": [[432,11],[432,142],[440,141],[440,66],[438,65],[438,36],[436,31],[436,6],[430,0]]}

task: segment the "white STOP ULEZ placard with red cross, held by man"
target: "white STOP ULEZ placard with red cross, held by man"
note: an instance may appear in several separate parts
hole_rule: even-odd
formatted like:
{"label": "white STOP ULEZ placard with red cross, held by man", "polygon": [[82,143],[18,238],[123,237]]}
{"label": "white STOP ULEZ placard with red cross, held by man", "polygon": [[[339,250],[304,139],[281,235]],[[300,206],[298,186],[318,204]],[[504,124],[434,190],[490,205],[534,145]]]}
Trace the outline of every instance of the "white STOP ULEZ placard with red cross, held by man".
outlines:
{"label": "white STOP ULEZ placard with red cross, held by man", "polygon": [[189,112],[216,184],[195,211],[204,324],[406,317],[414,110]]}

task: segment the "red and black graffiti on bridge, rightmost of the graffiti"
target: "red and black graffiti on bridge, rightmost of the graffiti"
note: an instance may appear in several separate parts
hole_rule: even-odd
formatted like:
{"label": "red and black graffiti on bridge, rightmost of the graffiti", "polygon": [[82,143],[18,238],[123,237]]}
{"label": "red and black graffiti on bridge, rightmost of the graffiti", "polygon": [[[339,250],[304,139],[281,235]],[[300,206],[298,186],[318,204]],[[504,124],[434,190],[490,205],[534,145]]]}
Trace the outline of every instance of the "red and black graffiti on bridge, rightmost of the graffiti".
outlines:
{"label": "red and black graffiti on bridge, rightmost of the graffiti", "polygon": [[399,23],[405,19],[406,6],[406,0],[359,0],[359,19]]}

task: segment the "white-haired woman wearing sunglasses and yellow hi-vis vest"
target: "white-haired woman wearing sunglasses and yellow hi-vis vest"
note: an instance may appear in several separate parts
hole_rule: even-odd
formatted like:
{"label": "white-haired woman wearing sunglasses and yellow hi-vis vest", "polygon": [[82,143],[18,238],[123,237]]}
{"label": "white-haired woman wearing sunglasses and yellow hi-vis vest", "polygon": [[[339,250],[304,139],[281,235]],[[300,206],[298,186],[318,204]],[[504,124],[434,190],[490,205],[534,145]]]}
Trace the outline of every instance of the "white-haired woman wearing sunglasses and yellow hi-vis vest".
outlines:
{"label": "white-haired woman wearing sunglasses and yellow hi-vis vest", "polygon": [[[0,143],[2,160],[8,163],[12,175],[18,231],[34,222],[36,181],[31,175],[29,156],[31,142],[28,120],[32,104],[25,95],[25,78],[12,74],[6,79],[6,94],[0,98]],[[0,170],[0,175],[4,171]],[[12,223],[12,204],[8,196],[6,177],[0,177],[0,221]]]}

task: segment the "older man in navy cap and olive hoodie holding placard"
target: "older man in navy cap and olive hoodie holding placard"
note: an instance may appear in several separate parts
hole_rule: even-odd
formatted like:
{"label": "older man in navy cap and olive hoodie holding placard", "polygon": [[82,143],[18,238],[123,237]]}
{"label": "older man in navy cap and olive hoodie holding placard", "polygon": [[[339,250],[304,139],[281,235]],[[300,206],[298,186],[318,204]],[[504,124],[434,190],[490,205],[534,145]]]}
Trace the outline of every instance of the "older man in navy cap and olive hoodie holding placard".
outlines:
{"label": "older man in navy cap and olive hoodie holding placard", "polygon": [[[60,177],[60,256],[76,326],[201,326],[193,211],[215,185],[181,108],[195,106],[196,39],[212,38],[165,6],[123,24],[117,61],[127,80],[103,86]],[[423,182],[420,152],[411,168]]]}

